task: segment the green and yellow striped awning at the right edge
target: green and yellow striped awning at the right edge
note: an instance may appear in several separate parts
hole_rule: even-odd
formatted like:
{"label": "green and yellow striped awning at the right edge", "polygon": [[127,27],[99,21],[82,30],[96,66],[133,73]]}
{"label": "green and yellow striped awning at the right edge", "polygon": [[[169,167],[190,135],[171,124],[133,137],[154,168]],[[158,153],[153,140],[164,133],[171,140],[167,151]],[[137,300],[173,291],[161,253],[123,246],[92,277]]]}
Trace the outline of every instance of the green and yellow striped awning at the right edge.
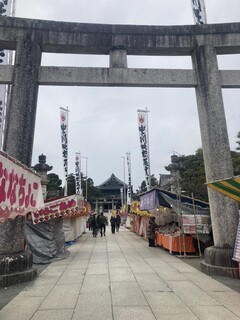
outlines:
{"label": "green and yellow striped awning at the right edge", "polygon": [[209,182],[207,186],[240,202],[240,176]]}

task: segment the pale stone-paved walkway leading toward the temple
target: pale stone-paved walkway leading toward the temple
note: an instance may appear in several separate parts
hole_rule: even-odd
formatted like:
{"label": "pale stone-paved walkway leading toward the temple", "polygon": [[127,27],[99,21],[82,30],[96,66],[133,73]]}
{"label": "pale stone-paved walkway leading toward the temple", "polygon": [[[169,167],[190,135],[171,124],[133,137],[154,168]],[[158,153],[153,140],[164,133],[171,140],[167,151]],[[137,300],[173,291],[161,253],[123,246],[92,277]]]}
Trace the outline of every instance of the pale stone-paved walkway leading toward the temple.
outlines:
{"label": "pale stone-paved walkway leading toward the temple", "polygon": [[121,228],[86,233],[0,311],[1,320],[237,320],[240,294]]}

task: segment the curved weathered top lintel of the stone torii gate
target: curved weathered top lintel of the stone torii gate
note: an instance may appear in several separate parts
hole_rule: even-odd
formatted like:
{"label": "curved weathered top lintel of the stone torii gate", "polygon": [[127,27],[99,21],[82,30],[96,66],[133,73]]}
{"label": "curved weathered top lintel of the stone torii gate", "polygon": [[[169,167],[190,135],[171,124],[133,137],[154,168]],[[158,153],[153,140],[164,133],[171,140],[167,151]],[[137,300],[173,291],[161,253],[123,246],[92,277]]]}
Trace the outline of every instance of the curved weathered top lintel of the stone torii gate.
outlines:
{"label": "curved weathered top lintel of the stone torii gate", "polygon": [[[33,32],[30,32],[30,30]],[[130,55],[190,55],[196,45],[213,45],[218,53],[240,52],[240,24],[135,26],[70,23],[1,17],[3,47],[15,49],[29,34],[45,52],[109,54],[112,48]]]}

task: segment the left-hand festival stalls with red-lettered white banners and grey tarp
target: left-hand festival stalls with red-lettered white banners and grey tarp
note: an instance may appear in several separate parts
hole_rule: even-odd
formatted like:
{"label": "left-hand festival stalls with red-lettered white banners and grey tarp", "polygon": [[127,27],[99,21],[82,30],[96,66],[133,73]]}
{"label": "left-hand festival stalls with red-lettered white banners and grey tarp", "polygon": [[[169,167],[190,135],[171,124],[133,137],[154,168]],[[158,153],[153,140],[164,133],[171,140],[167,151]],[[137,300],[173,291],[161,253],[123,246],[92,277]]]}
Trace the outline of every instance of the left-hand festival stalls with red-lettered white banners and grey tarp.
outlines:
{"label": "left-hand festival stalls with red-lettered white banners and grey tarp", "polygon": [[41,178],[0,152],[0,223],[27,215],[25,241],[34,263],[66,257],[65,241],[85,231],[90,212],[90,204],[79,195],[44,203]]}

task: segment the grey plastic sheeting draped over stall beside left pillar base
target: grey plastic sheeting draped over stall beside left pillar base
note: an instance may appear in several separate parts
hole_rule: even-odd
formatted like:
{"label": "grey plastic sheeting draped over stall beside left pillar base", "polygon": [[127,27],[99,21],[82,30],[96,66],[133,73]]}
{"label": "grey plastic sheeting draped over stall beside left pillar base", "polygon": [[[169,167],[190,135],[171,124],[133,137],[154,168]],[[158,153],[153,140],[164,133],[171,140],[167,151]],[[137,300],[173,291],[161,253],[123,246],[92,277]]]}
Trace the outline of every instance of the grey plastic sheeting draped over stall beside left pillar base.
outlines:
{"label": "grey plastic sheeting draped over stall beside left pillar base", "polygon": [[46,264],[66,259],[69,251],[65,248],[63,219],[52,219],[39,224],[26,221],[27,249],[33,255],[33,262]]}

